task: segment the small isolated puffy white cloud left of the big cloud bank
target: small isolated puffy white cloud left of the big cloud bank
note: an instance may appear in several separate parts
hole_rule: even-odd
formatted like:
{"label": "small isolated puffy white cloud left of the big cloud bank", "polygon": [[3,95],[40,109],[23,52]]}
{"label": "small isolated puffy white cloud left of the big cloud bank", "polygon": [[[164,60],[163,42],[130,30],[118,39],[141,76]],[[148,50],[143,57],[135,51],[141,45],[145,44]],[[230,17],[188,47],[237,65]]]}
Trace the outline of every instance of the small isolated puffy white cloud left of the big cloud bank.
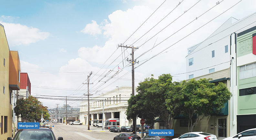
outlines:
{"label": "small isolated puffy white cloud left of the big cloud bank", "polygon": [[81,30],[81,33],[87,33],[93,36],[97,36],[98,34],[101,34],[101,27],[97,24],[96,21],[92,20],[92,23],[86,24],[83,30]]}

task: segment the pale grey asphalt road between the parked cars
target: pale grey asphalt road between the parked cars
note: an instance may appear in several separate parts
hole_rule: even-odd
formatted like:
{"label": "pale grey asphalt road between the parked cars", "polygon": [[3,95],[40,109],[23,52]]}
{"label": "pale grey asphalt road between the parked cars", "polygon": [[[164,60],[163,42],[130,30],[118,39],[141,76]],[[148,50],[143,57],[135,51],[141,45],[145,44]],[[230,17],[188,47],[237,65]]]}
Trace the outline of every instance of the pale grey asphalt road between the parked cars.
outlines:
{"label": "pale grey asphalt road between the parked cars", "polygon": [[116,135],[120,134],[110,132],[108,129],[102,130],[102,127],[90,126],[88,130],[88,126],[85,125],[50,124],[54,126],[52,131],[56,139],[61,136],[64,140],[113,140]]}

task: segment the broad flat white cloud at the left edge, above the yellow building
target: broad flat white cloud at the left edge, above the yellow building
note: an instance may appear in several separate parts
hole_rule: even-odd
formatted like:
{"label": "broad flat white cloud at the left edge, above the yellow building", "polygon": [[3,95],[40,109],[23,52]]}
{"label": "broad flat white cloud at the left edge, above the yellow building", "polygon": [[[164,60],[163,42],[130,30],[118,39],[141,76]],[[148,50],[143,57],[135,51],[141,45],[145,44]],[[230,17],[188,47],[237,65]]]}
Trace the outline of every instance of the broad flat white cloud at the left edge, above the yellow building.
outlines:
{"label": "broad flat white cloud at the left edge, above the yellow building", "polygon": [[29,45],[50,36],[48,32],[41,32],[37,28],[15,23],[2,23],[10,46]]}

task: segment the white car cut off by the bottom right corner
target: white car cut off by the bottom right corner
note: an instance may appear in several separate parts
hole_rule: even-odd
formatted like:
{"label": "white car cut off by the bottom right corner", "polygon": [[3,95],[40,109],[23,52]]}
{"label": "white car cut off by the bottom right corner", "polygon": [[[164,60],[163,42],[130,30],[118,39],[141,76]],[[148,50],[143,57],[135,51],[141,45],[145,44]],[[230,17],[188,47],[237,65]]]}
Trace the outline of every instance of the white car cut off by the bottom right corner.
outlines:
{"label": "white car cut off by the bottom right corner", "polygon": [[256,140],[256,128],[245,130],[237,135],[224,138],[223,140]]}

